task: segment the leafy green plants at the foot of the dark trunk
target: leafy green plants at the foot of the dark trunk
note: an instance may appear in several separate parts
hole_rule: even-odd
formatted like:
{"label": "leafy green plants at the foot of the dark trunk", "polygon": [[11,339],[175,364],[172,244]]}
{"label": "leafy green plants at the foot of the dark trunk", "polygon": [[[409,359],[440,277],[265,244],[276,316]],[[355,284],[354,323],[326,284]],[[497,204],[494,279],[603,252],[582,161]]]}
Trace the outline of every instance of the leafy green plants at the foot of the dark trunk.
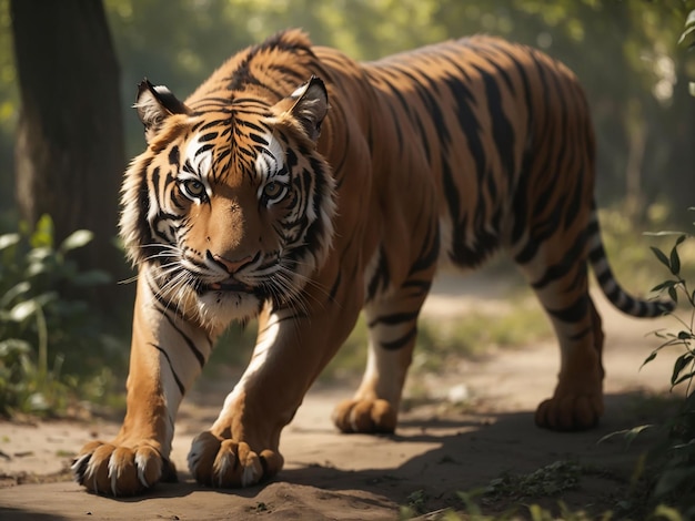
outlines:
{"label": "leafy green plants at the foot of the dark trunk", "polygon": [[109,276],[81,272],[70,255],[91,238],[77,231],[54,247],[49,216],[31,233],[0,235],[0,416],[64,411],[78,387],[99,399],[112,384],[98,346],[114,340],[78,296]]}

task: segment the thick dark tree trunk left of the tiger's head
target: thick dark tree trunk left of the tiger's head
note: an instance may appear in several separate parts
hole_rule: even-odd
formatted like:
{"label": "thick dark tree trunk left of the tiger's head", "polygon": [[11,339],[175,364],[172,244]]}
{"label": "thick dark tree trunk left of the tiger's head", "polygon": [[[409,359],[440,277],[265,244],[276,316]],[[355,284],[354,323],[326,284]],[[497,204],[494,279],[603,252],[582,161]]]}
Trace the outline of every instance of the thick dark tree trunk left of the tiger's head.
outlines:
{"label": "thick dark tree trunk left of the tiger's head", "polygon": [[56,242],[94,232],[80,266],[121,276],[113,247],[124,166],[119,67],[100,0],[11,0],[21,114],[16,181],[20,215],[54,222]]}

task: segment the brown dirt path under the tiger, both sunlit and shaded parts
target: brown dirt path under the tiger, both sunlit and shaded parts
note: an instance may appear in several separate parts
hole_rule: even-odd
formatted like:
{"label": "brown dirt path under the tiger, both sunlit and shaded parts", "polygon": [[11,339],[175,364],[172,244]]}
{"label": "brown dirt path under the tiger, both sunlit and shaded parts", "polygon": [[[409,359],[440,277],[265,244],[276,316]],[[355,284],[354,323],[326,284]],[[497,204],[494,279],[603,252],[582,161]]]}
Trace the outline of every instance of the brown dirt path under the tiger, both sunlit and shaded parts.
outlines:
{"label": "brown dirt path under the tiger, both sunlit and shaded parts", "polygon": [[[503,289],[488,280],[484,286],[485,295],[480,296],[476,279],[462,285],[443,277],[425,313],[452,318],[472,307],[494,310],[505,305]],[[550,486],[567,490],[553,494],[546,488],[541,492],[551,496],[545,504],[562,499],[594,512],[615,504],[628,508],[629,478],[649,440],[638,438],[629,448],[617,437],[597,441],[658,415],[663,402],[644,395],[667,392],[673,357],[662,355],[642,370],[639,365],[657,345],[647,334],[676,324],[673,318],[631,319],[602,296],[595,299],[606,331],[606,412],[600,427],[588,432],[548,432],[533,423],[535,406],[552,392],[558,366],[557,348],[546,341],[462,360],[455,377],[434,375],[427,381],[450,400],[404,411],[395,436],[338,433],[330,413],[352,389],[315,387],[283,433],[285,469],[280,476],[263,486],[220,491],[198,486],[185,464],[192,438],[213,421],[224,396],[197,391],[187,397],[177,423],[172,459],[179,483],[159,484],[134,499],[89,494],[66,471],[85,441],[109,439],[117,423],[0,423],[0,519],[381,520],[397,519],[405,505],[422,519],[436,519],[442,509],[463,509],[460,491],[491,486],[502,490],[504,477],[553,464],[563,468],[557,462],[574,467]],[[453,402],[462,399],[464,406]],[[577,482],[570,483],[575,474]],[[503,494],[479,499],[493,512],[513,501]]]}

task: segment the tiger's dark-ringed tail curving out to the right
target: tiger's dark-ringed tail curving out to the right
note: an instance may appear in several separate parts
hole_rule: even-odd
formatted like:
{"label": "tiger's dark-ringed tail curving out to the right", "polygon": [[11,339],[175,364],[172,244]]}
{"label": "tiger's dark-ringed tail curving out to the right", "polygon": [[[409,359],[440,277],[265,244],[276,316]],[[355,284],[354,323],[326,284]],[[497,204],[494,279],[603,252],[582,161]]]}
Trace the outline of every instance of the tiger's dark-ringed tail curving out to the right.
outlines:
{"label": "tiger's dark-ringed tail curving out to the right", "polygon": [[604,295],[611,304],[621,311],[633,317],[652,318],[671,313],[675,307],[673,300],[643,300],[635,298],[623,289],[611,269],[606,252],[601,238],[601,227],[596,210],[592,212],[592,218],[587,226],[588,234],[588,259],[596,275],[596,279]]}

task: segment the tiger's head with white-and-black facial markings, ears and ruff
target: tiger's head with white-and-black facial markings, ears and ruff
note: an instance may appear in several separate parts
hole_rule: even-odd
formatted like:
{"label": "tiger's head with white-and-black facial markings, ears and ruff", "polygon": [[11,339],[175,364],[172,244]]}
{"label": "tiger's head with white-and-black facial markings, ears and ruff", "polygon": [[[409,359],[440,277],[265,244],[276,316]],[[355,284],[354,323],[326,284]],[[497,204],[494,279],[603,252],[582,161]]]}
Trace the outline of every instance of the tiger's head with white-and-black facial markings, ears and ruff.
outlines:
{"label": "tiger's head with white-and-black facial markings, ears and ruff", "polygon": [[144,80],[135,108],[148,149],[121,193],[121,237],[154,295],[224,327],[299,294],[328,255],[334,181],[316,152],[321,80],[275,103],[262,96],[183,103]]}

